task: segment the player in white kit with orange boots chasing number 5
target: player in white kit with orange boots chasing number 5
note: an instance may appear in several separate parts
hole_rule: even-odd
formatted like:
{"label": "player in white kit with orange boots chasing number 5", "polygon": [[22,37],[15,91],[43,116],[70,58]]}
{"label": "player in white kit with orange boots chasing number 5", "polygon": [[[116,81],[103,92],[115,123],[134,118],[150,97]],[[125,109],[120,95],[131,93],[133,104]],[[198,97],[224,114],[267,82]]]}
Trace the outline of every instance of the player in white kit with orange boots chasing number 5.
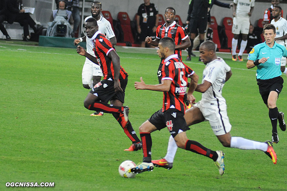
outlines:
{"label": "player in white kit with orange boots chasing number 5", "polygon": [[[194,104],[193,95],[188,95],[192,108],[185,112],[186,124],[193,125],[202,121],[209,121],[210,126],[224,147],[239,148],[244,150],[261,150],[273,161],[277,162],[277,156],[270,141],[257,142],[243,137],[232,137],[230,134],[231,124],[227,116],[226,101],[222,96],[222,88],[231,77],[231,68],[222,58],[215,54],[215,44],[205,41],[199,47],[199,58],[206,67],[203,71],[202,83],[198,84],[195,91],[202,92],[202,99]],[[177,151],[177,144],[169,137],[168,152],[163,159],[152,161],[157,167],[171,169],[173,159]]]}

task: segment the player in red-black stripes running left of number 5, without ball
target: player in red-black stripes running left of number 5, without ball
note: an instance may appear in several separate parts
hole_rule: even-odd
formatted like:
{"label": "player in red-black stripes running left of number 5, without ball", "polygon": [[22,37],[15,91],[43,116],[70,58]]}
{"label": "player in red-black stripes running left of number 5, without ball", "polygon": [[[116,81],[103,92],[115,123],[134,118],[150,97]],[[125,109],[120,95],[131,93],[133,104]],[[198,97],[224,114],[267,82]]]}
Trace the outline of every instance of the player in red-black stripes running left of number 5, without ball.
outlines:
{"label": "player in red-black stripes running left of number 5, without ball", "polygon": [[[89,18],[86,20],[85,32],[87,37],[94,42],[96,57],[87,53],[79,45],[77,46],[77,53],[100,65],[104,78],[92,87],[84,101],[84,106],[89,110],[112,113],[132,141],[132,145],[126,150],[139,150],[142,144],[128,120],[129,108],[123,106],[127,86],[127,72],[121,67],[119,55],[115,52],[110,40],[98,30],[96,19]],[[110,104],[108,104],[109,101]]]}

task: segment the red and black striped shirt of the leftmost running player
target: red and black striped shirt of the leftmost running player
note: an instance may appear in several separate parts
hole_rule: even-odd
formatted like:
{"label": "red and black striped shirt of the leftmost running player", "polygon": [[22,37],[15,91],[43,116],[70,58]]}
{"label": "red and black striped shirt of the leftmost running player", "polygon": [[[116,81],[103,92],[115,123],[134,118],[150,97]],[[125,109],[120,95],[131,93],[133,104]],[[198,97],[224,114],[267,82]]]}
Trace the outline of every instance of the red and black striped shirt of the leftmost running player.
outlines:
{"label": "red and black striped shirt of the leftmost running player", "polygon": [[[94,53],[98,60],[98,65],[101,66],[104,78],[114,80],[114,66],[112,59],[108,57],[110,51],[114,50],[110,40],[105,35],[101,34],[101,31],[97,31],[92,37],[94,41]],[[127,72],[120,66],[119,80],[123,80],[127,77]]]}

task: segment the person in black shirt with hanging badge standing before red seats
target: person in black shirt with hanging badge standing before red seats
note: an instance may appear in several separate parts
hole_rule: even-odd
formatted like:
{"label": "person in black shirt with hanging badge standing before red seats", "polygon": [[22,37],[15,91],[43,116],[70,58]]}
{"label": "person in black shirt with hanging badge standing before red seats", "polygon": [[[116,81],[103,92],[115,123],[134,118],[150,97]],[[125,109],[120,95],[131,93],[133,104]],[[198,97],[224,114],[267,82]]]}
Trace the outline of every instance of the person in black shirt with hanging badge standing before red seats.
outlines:
{"label": "person in black shirt with hanging badge standing before red seats", "polygon": [[141,47],[145,47],[145,38],[150,36],[155,39],[158,26],[158,10],[150,0],[144,0],[144,3],[139,6],[136,24]]}

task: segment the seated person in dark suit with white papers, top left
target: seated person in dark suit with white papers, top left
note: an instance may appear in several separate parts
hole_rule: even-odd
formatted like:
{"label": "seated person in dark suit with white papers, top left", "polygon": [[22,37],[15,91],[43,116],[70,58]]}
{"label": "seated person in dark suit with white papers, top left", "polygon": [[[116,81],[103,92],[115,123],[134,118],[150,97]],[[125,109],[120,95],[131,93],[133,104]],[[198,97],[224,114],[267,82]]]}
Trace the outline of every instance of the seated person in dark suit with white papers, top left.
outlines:
{"label": "seated person in dark suit with white papers, top left", "polygon": [[39,30],[36,28],[35,21],[31,18],[29,13],[25,13],[23,9],[22,0],[7,0],[7,22],[12,24],[13,22],[19,22],[23,26],[23,41],[29,41],[30,38],[29,26],[34,30],[35,34]]}

